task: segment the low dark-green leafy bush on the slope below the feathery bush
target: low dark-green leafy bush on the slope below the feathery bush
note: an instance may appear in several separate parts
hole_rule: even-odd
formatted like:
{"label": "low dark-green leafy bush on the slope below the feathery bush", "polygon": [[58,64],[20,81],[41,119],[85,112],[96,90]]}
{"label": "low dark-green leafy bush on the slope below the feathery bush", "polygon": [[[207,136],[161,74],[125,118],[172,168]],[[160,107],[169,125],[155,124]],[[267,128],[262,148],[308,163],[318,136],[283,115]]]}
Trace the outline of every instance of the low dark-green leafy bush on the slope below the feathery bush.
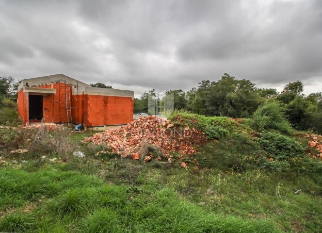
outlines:
{"label": "low dark-green leafy bush on the slope below the feathery bush", "polygon": [[275,161],[305,155],[305,149],[298,141],[279,133],[264,133],[259,139],[259,143]]}

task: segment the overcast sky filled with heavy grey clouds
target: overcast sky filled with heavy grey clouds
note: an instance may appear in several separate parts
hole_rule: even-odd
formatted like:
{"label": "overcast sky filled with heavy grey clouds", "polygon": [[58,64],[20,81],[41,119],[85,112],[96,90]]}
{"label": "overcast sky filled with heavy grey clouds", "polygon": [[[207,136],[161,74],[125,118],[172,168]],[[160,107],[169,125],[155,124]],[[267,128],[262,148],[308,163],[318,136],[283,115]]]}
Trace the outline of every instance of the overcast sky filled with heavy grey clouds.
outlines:
{"label": "overcast sky filled with heavy grey clouds", "polygon": [[0,75],[189,90],[223,73],[322,91],[322,0],[0,0]]}

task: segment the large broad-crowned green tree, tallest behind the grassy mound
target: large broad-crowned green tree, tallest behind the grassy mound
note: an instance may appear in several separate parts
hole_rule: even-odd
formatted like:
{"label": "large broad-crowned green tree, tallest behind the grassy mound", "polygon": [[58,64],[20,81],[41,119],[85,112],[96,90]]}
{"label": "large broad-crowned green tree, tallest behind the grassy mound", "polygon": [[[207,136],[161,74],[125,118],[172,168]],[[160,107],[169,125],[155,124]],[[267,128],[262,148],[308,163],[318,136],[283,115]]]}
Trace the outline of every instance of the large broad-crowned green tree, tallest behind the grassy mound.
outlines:
{"label": "large broad-crowned green tree, tallest behind the grassy mound", "polygon": [[208,116],[248,117],[260,103],[254,83],[225,73],[217,82],[199,83],[189,107],[195,113]]}

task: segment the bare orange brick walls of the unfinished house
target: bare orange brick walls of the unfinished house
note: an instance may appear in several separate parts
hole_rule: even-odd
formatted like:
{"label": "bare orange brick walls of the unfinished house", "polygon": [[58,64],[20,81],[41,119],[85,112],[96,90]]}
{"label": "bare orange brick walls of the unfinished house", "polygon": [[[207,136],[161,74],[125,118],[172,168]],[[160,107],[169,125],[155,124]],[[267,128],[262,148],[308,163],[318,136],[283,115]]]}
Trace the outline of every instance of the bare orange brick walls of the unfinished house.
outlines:
{"label": "bare orange brick walls of the unfinished house", "polygon": [[[60,86],[60,88],[59,88]],[[39,86],[51,88],[51,85]],[[56,94],[43,95],[44,122],[67,122],[64,108],[64,83],[54,83]],[[126,124],[133,119],[133,100],[130,97],[71,95],[73,123],[87,126]],[[61,105],[59,101],[61,99]],[[53,103],[54,102],[54,103]],[[61,107],[60,107],[61,106]],[[29,123],[28,93],[18,92],[18,112],[25,124]]]}

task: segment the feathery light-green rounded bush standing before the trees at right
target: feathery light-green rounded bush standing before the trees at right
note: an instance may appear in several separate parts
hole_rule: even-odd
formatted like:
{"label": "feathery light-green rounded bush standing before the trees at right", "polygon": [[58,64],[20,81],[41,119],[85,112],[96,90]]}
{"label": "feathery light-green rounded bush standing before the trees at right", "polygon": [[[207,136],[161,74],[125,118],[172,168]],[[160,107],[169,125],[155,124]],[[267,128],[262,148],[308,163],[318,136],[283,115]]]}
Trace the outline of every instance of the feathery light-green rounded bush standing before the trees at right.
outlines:
{"label": "feathery light-green rounded bush standing before the trees at right", "polygon": [[258,132],[274,129],[282,133],[292,133],[290,122],[284,116],[284,109],[276,101],[267,101],[260,105],[252,119],[252,126]]}

